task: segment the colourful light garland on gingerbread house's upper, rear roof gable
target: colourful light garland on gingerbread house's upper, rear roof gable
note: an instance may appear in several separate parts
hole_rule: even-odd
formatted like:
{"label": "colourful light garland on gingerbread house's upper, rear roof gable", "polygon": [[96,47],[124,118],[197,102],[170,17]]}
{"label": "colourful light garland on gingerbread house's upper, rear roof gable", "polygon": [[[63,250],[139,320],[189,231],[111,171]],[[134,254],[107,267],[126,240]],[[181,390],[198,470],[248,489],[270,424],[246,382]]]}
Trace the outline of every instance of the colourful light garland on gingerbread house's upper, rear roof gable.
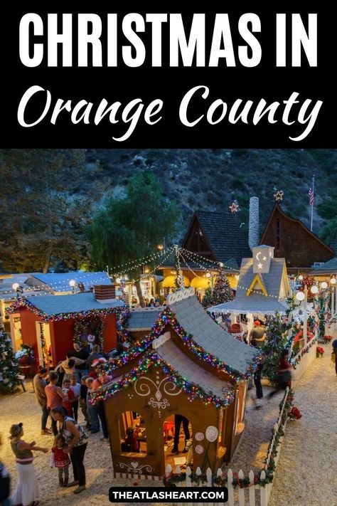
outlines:
{"label": "colourful light garland on gingerbread house's upper, rear roof gable", "polygon": [[171,310],[171,308],[166,307],[166,309],[159,314],[159,318],[152,327],[152,330],[148,337],[146,337],[141,342],[137,341],[136,343],[132,343],[126,352],[123,352],[121,355],[119,355],[119,357],[117,357],[117,359],[114,359],[112,362],[109,362],[107,366],[105,366],[107,374],[109,374],[109,371],[117,369],[118,367],[122,367],[124,364],[131,362],[132,360],[139,357],[140,354],[144,353],[146,349],[148,349],[151,345],[151,342],[163,334],[166,325],[171,325],[172,329],[178,338],[181,339],[186,348],[190,352],[193,352],[193,354],[195,354],[201,362],[207,362],[212,367],[217,369],[217,371],[220,373],[223,372],[227,374],[229,376],[229,380],[234,384],[237,384],[240,379],[247,379],[252,376],[252,374],[255,372],[255,369],[257,368],[257,365],[262,359],[262,352],[260,352],[260,354],[257,354],[252,364],[247,367],[245,374],[239,373],[233,367],[225,364],[225,362],[221,361],[213,354],[206,352],[203,347],[196,343],[193,340],[193,336],[191,334],[187,334],[186,331],[183,330],[183,327],[181,327],[181,325],[178,323],[176,315]]}

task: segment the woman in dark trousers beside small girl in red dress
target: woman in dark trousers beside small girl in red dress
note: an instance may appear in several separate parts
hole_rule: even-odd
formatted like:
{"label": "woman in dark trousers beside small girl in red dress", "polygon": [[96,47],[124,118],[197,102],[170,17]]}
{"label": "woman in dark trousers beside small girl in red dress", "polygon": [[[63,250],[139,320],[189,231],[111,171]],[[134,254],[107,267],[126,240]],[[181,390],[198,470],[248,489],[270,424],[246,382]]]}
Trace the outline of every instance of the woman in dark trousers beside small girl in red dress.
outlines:
{"label": "woman in dark trousers beside small girl in red dress", "polygon": [[51,416],[55,422],[60,423],[60,434],[62,434],[67,445],[67,448],[63,448],[63,451],[70,454],[73,465],[74,480],[68,483],[68,487],[78,485],[74,493],[79,494],[82,490],[85,490],[86,484],[83,459],[87,449],[87,435],[75,426],[75,420],[67,416],[63,408],[52,409]]}

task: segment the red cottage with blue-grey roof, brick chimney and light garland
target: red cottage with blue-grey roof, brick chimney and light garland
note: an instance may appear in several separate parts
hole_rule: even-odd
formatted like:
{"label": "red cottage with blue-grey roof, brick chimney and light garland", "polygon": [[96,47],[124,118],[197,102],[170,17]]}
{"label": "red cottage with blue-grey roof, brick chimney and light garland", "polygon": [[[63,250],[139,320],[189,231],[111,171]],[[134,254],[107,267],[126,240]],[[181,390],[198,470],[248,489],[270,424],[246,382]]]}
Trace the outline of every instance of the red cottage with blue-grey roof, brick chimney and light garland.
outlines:
{"label": "red cottage with blue-grey roof, brick chimney and light garland", "polygon": [[[95,335],[92,344],[101,344],[105,352],[117,346],[117,320],[128,313],[121,300],[105,298],[112,295],[112,285],[107,285],[106,295],[102,286],[96,296],[92,292],[36,295],[22,297],[11,305],[7,312],[12,340],[16,349],[20,349],[19,344],[33,347],[34,369],[38,365],[55,367],[73,349],[73,342],[87,344],[87,334]],[[16,335],[18,321],[20,332]]]}

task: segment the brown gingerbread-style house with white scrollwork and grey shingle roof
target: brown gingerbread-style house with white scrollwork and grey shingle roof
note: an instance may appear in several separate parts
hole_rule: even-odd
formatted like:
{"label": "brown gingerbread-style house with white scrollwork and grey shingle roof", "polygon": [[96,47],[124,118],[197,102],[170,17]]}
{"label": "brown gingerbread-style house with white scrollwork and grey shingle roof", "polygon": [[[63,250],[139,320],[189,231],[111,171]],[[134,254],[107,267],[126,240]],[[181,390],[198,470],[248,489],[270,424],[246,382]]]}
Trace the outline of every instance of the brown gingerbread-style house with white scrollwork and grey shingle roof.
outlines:
{"label": "brown gingerbread-style house with white scrollwork and grey shingle roof", "polygon": [[[107,366],[112,381],[92,395],[94,403],[105,401],[115,476],[153,479],[164,476],[167,463],[173,467],[163,433],[175,415],[190,423],[194,469],[215,470],[237,448],[247,379],[260,354],[222,330],[193,294],[188,288],[169,295],[148,337]],[[146,432],[140,453],[122,451],[132,413],[139,413]],[[180,441],[180,453],[184,446]]]}

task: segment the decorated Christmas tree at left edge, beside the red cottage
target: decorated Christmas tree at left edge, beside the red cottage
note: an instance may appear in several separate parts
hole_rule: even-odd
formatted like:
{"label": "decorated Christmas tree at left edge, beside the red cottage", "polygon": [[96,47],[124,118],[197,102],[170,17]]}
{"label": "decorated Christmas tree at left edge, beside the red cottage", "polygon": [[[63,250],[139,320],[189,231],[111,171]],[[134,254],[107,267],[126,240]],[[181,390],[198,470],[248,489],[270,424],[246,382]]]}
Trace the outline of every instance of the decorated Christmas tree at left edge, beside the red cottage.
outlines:
{"label": "decorated Christmas tree at left edge, beside the red cottage", "polygon": [[14,357],[11,339],[0,330],[0,392],[10,394],[20,384],[18,362]]}

